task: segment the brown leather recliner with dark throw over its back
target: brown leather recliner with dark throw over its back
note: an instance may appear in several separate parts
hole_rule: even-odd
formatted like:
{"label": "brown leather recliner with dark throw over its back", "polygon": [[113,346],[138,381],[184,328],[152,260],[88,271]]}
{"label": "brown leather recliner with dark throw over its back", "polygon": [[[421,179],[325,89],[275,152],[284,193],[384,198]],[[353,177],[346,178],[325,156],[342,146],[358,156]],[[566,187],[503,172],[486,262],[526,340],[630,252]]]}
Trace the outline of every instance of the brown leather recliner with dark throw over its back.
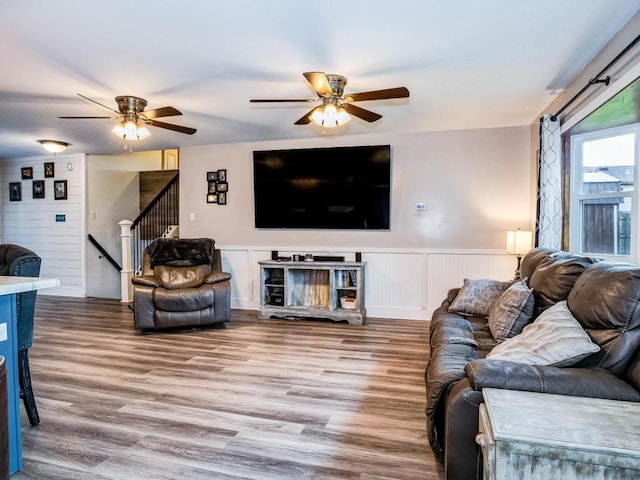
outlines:
{"label": "brown leather recliner with dark throw over its back", "polygon": [[231,274],[210,238],[160,238],[144,251],[134,277],[139,330],[199,327],[231,319]]}

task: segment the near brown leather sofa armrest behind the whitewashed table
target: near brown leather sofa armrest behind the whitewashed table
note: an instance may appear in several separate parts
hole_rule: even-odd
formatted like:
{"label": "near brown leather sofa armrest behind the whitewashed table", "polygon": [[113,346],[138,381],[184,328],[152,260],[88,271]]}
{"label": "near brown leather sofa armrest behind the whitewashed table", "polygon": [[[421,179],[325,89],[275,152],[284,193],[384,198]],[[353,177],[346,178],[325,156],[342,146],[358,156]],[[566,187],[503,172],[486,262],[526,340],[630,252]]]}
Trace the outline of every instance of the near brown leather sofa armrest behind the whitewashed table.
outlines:
{"label": "near brown leather sofa armrest behind the whitewashed table", "polygon": [[505,360],[474,360],[465,367],[474,390],[504,388],[608,400],[640,401],[640,392],[603,368],[559,368]]}

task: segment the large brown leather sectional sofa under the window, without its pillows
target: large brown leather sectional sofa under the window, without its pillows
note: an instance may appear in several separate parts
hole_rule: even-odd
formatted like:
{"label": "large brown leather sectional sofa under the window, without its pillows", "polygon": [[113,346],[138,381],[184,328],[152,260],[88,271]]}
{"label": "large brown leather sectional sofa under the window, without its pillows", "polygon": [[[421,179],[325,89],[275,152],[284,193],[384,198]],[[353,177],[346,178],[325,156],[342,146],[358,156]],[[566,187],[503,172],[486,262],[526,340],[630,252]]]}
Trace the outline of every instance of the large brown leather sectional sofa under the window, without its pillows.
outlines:
{"label": "large brown leather sectional sofa under the window, without its pillows", "polygon": [[499,343],[488,319],[451,312],[460,289],[451,290],[431,320],[425,372],[427,434],[448,480],[482,478],[475,435],[484,387],[640,401],[640,265],[536,248],[521,275],[531,321],[566,301],[600,349],[568,367],[485,358]]}

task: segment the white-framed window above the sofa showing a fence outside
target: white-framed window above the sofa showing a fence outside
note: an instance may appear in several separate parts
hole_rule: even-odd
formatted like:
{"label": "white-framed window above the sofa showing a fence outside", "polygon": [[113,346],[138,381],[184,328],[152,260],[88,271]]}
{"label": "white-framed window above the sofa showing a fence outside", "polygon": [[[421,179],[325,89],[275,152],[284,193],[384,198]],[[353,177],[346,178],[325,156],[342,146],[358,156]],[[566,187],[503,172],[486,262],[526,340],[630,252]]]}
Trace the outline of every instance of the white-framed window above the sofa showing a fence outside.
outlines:
{"label": "white-framed window above the sofa showing a fence outside", "polygon": [[638,260],[639,95],[640,79],[564,133],[571,251]]}

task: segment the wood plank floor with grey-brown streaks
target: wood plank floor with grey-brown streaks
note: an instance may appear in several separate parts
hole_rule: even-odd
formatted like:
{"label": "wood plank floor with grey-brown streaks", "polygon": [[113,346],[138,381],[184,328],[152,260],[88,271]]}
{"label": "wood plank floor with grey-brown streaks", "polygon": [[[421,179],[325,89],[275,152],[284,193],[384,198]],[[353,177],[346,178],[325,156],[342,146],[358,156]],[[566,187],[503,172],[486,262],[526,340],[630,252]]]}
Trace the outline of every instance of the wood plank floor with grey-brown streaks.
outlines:
{"label": "wood plank floor with grey-brown streaks", "polygon": [[39,295],[25,479],[442,479],[428,323],[258,320],[140,335],[115,300]]}

